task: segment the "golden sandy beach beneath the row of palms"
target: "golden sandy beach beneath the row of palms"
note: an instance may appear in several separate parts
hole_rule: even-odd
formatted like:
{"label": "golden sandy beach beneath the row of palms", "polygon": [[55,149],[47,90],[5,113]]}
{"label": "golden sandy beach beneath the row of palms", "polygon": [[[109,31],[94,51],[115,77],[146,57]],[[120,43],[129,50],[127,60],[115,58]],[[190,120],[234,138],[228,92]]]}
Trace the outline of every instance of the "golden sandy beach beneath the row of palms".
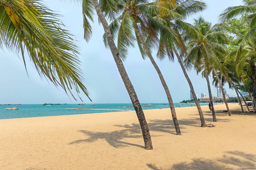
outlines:
{"label": "golden sandy beach beneath the row of palms", "polygon": [[0,169],[256,169],[256,114],[238,104],[207,106],[201,128],[196,107],[144,111],[153,150],[144,143],[135,112],[0,120]]}

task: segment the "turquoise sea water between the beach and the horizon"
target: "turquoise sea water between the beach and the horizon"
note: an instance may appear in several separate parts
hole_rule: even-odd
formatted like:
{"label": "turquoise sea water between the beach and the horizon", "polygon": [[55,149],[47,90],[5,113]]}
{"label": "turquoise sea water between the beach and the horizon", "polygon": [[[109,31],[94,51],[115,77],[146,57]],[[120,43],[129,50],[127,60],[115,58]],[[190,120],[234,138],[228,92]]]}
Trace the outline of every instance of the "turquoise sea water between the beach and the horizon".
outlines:
{"label": "turquoise sea water between the beach and the horizon", "polygon": [[[160,109],[168,108],[169,104],[164,103],[141,103],[142,109]],[[195,104],[192,104],[195,105]],[[182,104],[181,107],[191,107],[191,104]],[[6,110],[5,108],[16,107],[19,110]],[[175,107],[179,107],[179,103],[175,103]],[[74,109],[83,108],[83,109]],[[9,118],[25,118],[25,117],[44,117],[44,116],[60,116],[71,114],[92,114],[92,113],[108,113],[134,111],[131,103],[122,104],[61,104],[46,106],[43,104],[22,104],[22,105],[0,105],[0,119]]]}

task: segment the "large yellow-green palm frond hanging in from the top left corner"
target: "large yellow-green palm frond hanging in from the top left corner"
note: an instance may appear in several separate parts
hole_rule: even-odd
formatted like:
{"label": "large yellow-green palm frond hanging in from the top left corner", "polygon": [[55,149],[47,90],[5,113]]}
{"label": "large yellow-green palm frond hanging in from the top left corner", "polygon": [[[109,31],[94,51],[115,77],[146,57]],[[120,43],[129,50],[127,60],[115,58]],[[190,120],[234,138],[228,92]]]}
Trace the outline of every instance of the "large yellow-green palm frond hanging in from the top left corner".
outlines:
{"label": "large yellow-green palm frond hanging in from the top left corner", "polygon": [[[40,76],[72,94],[75,88],[88,96],[82,84],[79,48],[71,33],[61,28],[59,15],[40,1],[10,0],[0,2],[0,46],[21,53],[26,67],[24,50],[34,63]],[[89,97],[89,96],[88,96]],[[81,99],[81,98],[80,98]]]}

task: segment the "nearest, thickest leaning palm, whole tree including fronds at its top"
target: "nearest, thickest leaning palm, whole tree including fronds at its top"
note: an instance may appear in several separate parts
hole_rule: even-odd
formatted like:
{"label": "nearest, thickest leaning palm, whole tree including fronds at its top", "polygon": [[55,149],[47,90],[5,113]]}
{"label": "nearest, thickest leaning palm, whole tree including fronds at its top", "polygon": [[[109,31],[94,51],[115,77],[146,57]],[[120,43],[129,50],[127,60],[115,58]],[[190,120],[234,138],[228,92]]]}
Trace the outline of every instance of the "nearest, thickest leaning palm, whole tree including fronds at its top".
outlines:
{"label": "nearest, thickest leaning palm, whole tree including fronds at its top", "polygon": [[[139,120],[139,124],[141,125],[142,129],[142,134],[143,134],[143,139],[144,139],[144,147],[146,150],[151,150],[152,147],[152,142],[151,142],[151,136],[150,136],[150,131],[147,126],[147,121],[146,118],[144,117],[144,113],[141,107],[141,104],[139,103],[137,94],[134,90],[133,84],[131,84],[131,81],[129,79],[129,76],[126,73],[125,67],[123,66],[122,60],[119,57],[119,52],[117,50],[117,47],[115,46],[112,33],[110,32],[108,22],[106,21],[106,18],[102,12],[105,12],[106,16],[113,17],[113,13],[116,11],[115,3],[108,3],[108,2],[103,2],[101,3],[107,3],[106,5],[100,6],[97,0],[85,0],[82,1],[82,10],[84,14],[84,29],[85,29],[85,39],[88,41],[89,37],[92,33],[92,28],[90,27],[90,24],[88,22],[88,18],[90,20],[93,20],[93,8],[96,10],[98,18],[100,19],[102,26],[104,27],[105,31],[105,36],[108,41],[109,48],[112,52],[112,55],[114,57],[114,61],[117,64],[118,71],[121,75],[121,78],[123,80],[123,83],[125,84],[126,90],[130,96],[131,102],[133,103],[133,107],[135,109],[135,112],[137,113],[137,117]],[[101,10],[102,7],[102,10]],[[112,10],[109,10],[112,9]]]}

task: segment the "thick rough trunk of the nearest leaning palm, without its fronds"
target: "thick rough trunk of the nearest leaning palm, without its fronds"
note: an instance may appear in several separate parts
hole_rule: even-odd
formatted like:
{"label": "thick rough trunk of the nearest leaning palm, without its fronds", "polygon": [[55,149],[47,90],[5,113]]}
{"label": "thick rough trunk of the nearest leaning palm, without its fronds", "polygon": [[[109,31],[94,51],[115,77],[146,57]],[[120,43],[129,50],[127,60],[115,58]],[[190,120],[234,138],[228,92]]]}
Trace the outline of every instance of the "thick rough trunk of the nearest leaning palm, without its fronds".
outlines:
{"label": "thick rough trunk of the nearest leaning palm, without its fronds", "polygon": [[151,141],[150,131],[147,126],[146,118],[144,117],[144,113],[143,113],[141,104],[139,103],[137,94],[134,90],[133,84],[131,84],[129,76],[127,75],[125,67],[123,66],[122,60],[118,56],[119,55],[118,50],[117,50],[117,47],[115,46],[112,34],[110,33],[108,22],[106,21],[104,15],[102,14],[100,6],[98,5],[98,1],[92,0],[92,2],[93,2],[94,8],[96,9],[98,18],[100,18],[101,23],[104,27],[106,39],[108,40],[108,44],[112,52],[112,55],[114,57],[114,61],[117,64],[118,71],[122,77],[123,83],[125,84],[125,87],[130,96],[131,102],[133,103],[135,112],[137,113],[137,117],[139,120],[139,124],[141,125],[141,130],[143,134],[144,147],[146,150],[152,150],[153,148],[152,141]]}

